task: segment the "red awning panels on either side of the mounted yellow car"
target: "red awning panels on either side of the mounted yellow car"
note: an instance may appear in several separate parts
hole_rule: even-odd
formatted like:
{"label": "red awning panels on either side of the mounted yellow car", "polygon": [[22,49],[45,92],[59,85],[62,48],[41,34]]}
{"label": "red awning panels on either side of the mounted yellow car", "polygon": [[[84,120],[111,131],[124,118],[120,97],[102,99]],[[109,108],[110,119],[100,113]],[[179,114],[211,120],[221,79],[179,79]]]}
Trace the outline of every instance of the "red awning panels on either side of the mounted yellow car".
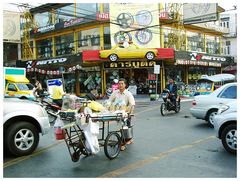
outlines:
{"label": "red awning panels on either side of the mounted yellow car", "polygon": [[[173,48],[156,48],[158,55],[156,59],[173,59],[174,49]],[[83,50],[82,51],[83,61],[96,61],[96,60],[107,60],[99,57],[99,50]]]}

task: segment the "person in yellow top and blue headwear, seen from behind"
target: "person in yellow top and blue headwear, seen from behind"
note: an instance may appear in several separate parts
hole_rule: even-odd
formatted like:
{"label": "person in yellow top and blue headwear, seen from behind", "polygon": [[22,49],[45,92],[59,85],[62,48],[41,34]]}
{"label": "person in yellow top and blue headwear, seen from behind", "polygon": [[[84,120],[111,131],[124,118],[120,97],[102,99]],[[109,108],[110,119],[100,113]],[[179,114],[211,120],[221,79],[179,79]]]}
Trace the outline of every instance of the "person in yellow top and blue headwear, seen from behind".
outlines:
{"label": "person in yellow top and blue headwear, seen from behind", "polygon": [[62,98],[66,93],[60,87],[62,85],[62,82],[60,80],[56,80],[55,83],[56,85],[54,85],[52,89],[52,99],[54,103],[62,107]]}

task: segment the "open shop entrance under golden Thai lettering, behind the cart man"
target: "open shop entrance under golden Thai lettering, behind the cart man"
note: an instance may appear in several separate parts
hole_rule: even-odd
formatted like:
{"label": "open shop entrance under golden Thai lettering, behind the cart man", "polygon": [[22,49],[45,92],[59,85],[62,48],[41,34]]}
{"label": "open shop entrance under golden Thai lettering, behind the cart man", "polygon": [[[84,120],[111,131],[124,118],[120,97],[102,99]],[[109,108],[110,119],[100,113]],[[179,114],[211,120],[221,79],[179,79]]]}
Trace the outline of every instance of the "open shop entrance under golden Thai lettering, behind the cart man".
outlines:
{"label": "open shop entrance under golden Thai lettering, behind the cart man", "polygon": [[[154,65],[161,64],[161,61],[134,60],[134,61],[118,61],[104,62],[104,70],[106,72],[106,88],[110,88],[114,79],[125,78],[128,86],[133,90],[133,95],[155,93],[155,84],[152,86],[149,77],[151,77]],[[154,77],[156,80],[156,77]],[[154,81],[155,82],[155,81]],[[161,82],[158,81],[158,87]],[[154,88],[154,90],[152,90]],[[160,92],[160,89],[158,89]]]}

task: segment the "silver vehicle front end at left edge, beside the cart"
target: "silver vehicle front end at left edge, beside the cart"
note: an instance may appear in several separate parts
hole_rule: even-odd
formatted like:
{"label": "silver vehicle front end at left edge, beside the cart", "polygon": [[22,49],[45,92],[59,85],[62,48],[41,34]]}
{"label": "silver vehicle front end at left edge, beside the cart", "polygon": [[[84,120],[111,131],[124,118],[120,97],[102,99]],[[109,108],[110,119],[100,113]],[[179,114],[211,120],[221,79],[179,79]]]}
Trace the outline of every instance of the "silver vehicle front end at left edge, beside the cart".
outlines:
{"label": "silver vehicle front end at left edge, beside the cart", "polygon": [[3,99],[4,149],[15,155],[31,154],[38,146],[39,133],[50,130],[48,114],[37,102]]}

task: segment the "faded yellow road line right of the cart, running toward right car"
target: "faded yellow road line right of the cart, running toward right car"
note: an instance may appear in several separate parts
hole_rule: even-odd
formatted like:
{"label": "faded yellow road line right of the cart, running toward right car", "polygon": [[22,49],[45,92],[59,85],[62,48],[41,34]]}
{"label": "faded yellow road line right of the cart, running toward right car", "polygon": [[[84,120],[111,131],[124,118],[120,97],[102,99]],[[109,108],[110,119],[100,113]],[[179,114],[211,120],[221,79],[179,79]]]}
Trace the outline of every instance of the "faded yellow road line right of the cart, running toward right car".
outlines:
{"label": "faded yellow road line right of the cart, running toward right car", "polygon": [[111,172],[108,172],[108,173],[105,173],[97,178],[113,178],[113,177],[117,177],[117,176],[120,176],[122,174],[125,174],[131,170],[135,170],[135,169],[138,169],[138,168],[141,168],[147,164],[150,164],[150,163],[153,163],[155,161],[159,161],[161,160],[162,158],[168,156],[169,154],[172,154],[172,153],[176,153],[178,151],[181,151],[181,150],[184,150],[184,149],[187,149],[187,148],[192,148],[193,146],[195,145],[198,145],[200,143],[203,143],[203,142],[207,142],[207,141],[210,141],[212,139],[216,139],[215,136],[209,136],[207,138],[203,138],[203,139],[200,139],[200,140],[196,140],[190,144],[186,144],[186,145],[182,145],[182,146],[179,146],[179,147],[175,147],[175,148],[172,148],[170,150],[167,150],[165,152],[161,152],[155,156],[152,156],[152,157],[148,157],[144,160],[140,160],[138,162],[135,162],[135,163],[132,163],[132,164],[129,164],[129,165],[126,165],[122,168],[119,168],[119,169],[116,169],[114,171],[111,171]]}

